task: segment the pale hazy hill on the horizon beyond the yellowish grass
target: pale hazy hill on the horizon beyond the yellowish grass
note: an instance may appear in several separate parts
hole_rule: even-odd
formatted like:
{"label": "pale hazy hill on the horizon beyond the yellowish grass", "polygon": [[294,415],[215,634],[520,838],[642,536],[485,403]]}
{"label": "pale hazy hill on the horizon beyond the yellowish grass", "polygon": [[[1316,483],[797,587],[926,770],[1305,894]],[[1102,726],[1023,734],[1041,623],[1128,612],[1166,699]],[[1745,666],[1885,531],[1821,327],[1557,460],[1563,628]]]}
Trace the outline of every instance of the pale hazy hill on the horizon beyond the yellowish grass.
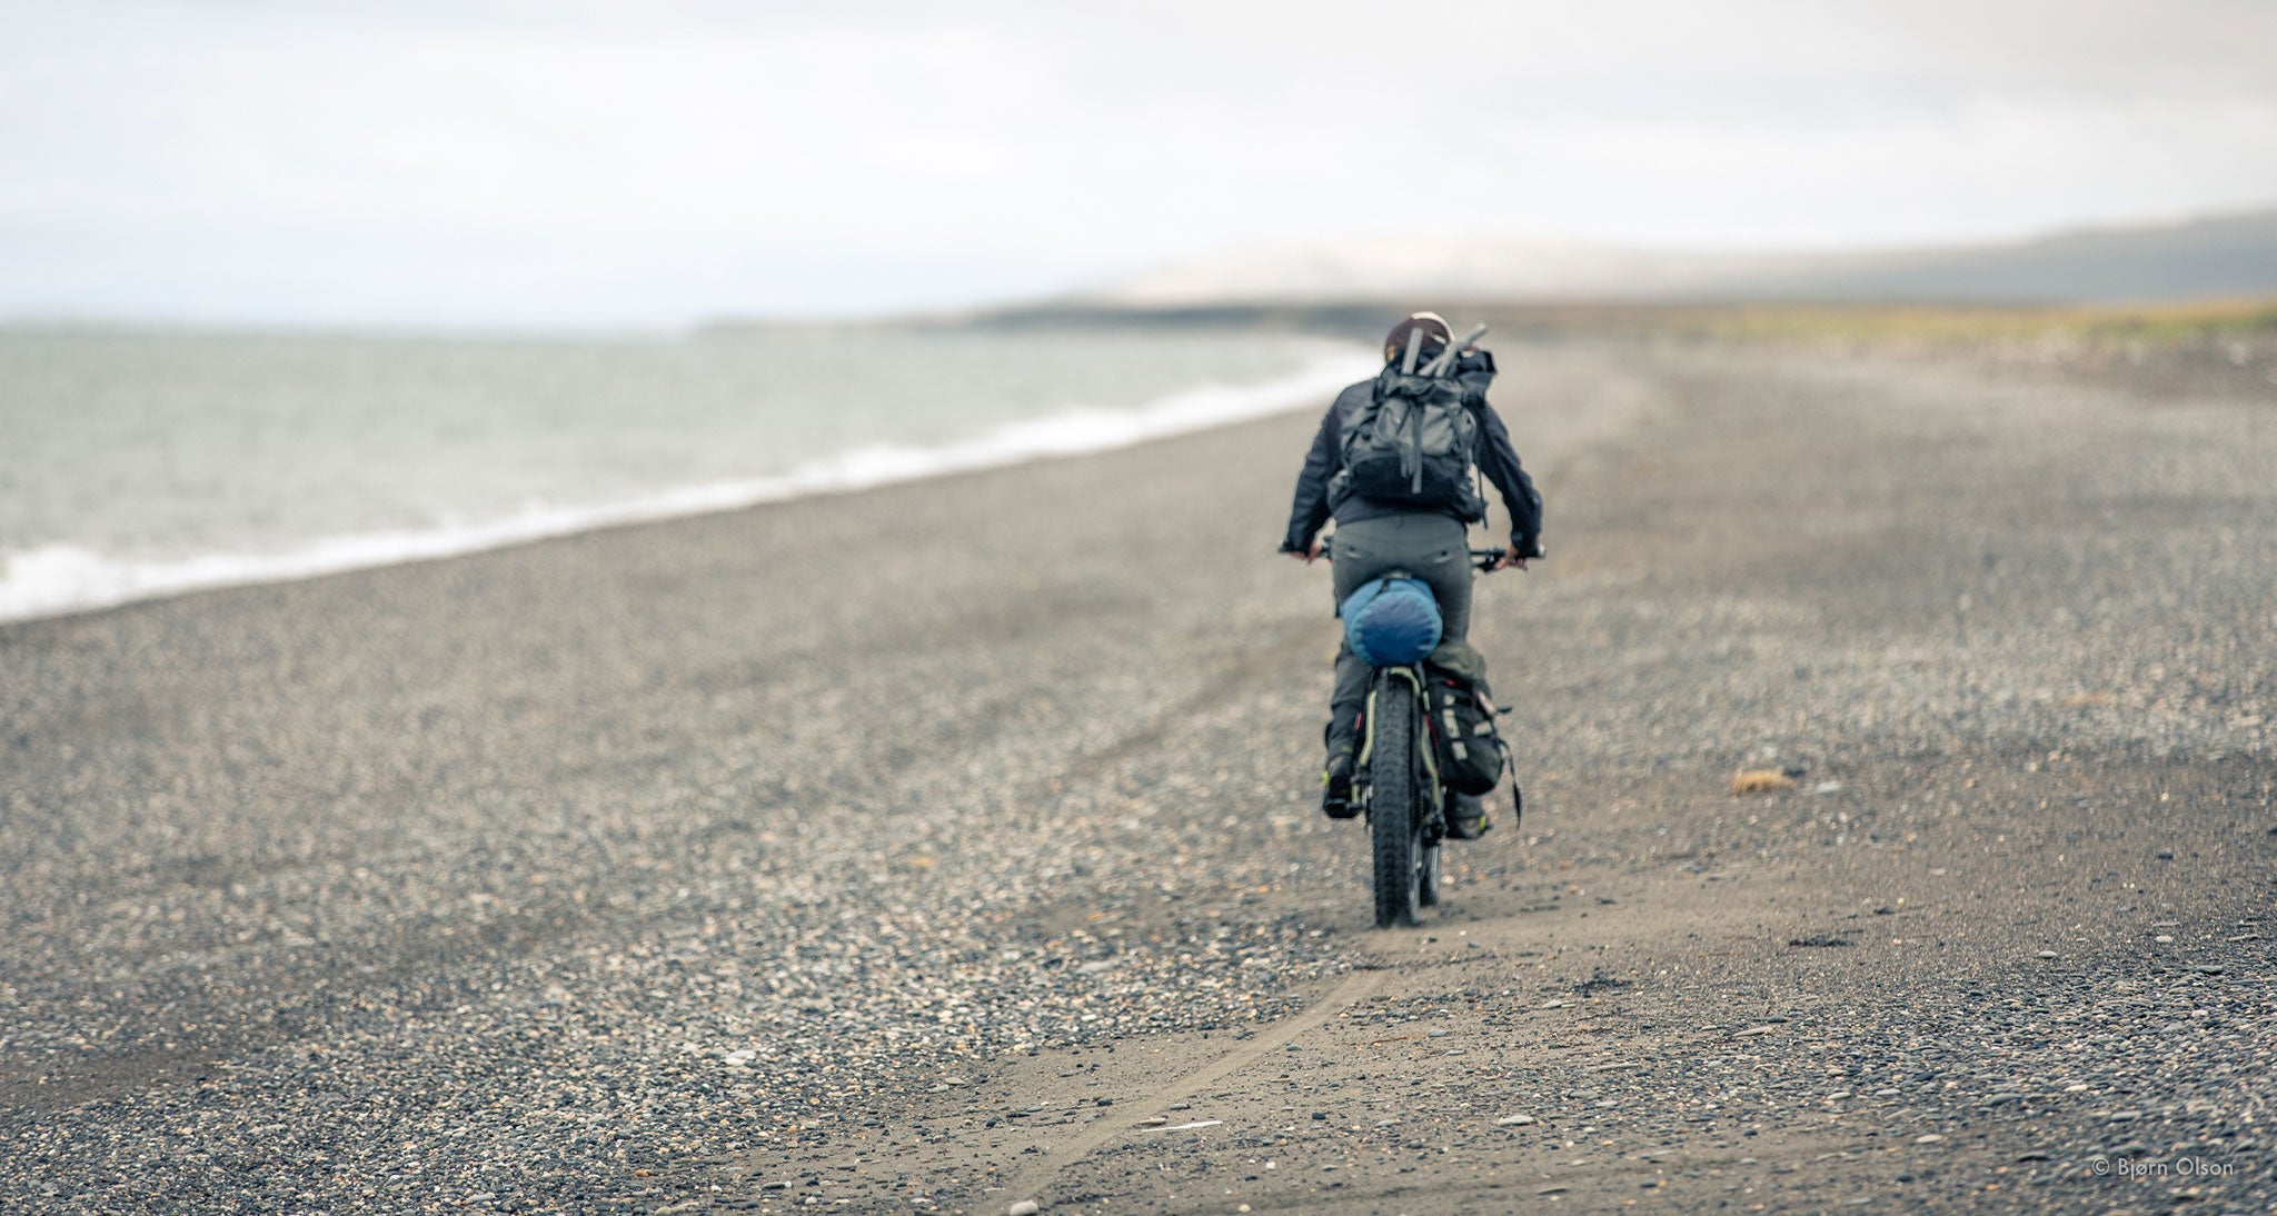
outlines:
{"label": "pale hazy hill on the horizon beyond the yellowish grass", "polygon": [[1075,305],[1353,298],[2152,303],[2277,296],[2277,209],[2029,241],[1733,255],[1532,237],[1261,248],[1138,276]]}

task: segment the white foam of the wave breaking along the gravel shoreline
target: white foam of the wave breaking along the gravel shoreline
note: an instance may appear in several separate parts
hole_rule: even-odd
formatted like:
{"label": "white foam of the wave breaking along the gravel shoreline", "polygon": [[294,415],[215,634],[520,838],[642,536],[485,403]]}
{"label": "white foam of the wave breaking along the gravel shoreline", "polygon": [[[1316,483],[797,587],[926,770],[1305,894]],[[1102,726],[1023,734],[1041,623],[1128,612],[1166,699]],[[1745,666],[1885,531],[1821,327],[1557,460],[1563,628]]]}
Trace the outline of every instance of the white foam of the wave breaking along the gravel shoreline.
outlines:
{"label": "white foam of the wave breaking along the gravel shoreline", "polygon": [[280,553],[123,560],[80,544],[43,544],[0,556],[0,622],[84,613],[207,588],[282,583],[346,569],[449,558],[619,524],[735,510],[811,494],[845,494],[897,480],[1107,451],[1302,405],[1323,405],[1327,394],[1371,371],[1366,358],[1327,358],[1261,385],[1205,385],[1134,410],[1070,410],[945,446],[868,446],[802,465],[781,476],[685,485],[599,506],[540,506],[462,526],[339,535]]}

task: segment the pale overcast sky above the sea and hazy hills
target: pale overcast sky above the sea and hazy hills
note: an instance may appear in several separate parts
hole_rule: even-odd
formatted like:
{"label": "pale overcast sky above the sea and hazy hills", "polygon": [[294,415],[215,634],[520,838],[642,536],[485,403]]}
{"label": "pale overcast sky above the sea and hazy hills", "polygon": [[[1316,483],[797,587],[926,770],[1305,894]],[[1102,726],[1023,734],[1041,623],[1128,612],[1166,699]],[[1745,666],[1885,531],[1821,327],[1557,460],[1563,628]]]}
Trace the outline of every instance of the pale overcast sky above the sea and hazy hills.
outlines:
{"label": "pale overcast sky above the sea and hazy hills", "polygon": [[2272,203],[2270,0],[0,0],[0,317],[679,326]]}

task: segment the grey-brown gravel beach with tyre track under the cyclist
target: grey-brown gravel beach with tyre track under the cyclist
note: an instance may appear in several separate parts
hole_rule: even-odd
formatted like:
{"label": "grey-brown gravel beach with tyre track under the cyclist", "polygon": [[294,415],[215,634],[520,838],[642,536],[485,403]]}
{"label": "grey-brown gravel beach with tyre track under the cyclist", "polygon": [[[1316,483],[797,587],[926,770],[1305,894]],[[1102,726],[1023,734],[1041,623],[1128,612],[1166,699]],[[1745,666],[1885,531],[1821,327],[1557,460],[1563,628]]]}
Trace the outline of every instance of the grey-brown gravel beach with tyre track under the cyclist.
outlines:
{"label": "grey-brown gravel beach with tyre track under the cyclist", "polygon": [[1421,929],[1309,412],[0,626],[0,1211],[2277,1209],[2268,369],[1498,355]]}

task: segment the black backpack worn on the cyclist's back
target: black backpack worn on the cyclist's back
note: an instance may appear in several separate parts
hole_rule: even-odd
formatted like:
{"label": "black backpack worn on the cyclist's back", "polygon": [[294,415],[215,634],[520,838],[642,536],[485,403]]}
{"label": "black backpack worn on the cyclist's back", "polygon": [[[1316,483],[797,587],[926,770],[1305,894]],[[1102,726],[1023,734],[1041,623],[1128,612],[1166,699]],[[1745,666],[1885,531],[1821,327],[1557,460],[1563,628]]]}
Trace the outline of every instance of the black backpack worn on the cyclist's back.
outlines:
{"label": "black backpack worn on the cyclist's back", "polygon": [[1364,499],[1414,508],[1466,508],[1478,412],[1453,376],[1387,367],[1368,403],[1343,424],[1339,439],[1346,485]]}

